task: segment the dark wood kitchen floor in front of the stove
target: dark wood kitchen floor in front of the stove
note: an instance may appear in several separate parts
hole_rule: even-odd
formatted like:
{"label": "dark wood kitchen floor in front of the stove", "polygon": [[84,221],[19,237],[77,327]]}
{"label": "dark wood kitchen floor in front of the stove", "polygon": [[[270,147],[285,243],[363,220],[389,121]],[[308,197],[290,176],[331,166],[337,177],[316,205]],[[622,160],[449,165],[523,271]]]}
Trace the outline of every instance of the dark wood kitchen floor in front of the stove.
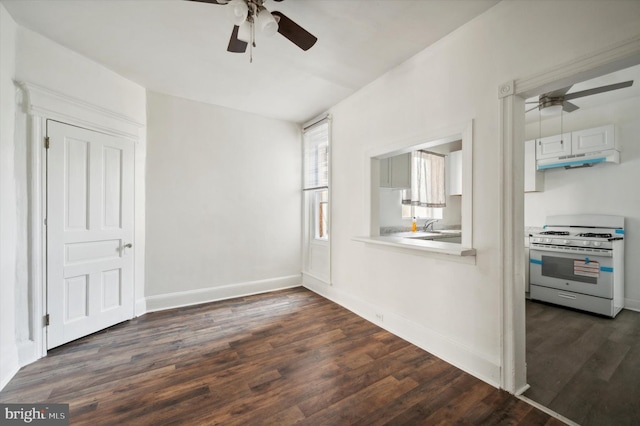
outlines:
{"label": "dark wood kitchen floor in front of the stove", "polygon": [[524,395],[584,426],[640,424],[640,313],[526,307]]}

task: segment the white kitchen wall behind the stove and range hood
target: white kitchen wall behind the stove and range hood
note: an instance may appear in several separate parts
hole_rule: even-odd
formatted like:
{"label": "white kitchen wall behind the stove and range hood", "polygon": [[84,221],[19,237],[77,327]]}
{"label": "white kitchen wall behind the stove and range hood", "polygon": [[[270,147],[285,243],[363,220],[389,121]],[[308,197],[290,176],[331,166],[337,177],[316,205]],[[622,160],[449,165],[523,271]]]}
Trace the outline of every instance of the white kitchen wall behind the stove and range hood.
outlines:
{"label": "white kitchen wall behind the stove and range hood", "polygon": [[[637,84],[640,82],[636,82]],[[525,225],[542,226],[547,215],[611,214],[625,219],[625,305],[640,310],[640,97],[563,115],[563,131],[614,124],[621,162],[545,171],[544,192],[525,194]],[[559,132],[559,119],[531,123],[527,139]]]}

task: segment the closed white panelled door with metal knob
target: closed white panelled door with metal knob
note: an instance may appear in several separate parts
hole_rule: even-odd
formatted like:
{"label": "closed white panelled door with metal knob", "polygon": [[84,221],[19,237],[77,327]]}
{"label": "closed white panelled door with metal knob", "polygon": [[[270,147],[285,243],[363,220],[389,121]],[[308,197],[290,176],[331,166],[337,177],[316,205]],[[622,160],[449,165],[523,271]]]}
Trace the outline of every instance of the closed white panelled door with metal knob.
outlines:
{"label": "closed white panelled door with metal knob", "polygon": [[48,121],[47,347],[133,318],[133,142]]}

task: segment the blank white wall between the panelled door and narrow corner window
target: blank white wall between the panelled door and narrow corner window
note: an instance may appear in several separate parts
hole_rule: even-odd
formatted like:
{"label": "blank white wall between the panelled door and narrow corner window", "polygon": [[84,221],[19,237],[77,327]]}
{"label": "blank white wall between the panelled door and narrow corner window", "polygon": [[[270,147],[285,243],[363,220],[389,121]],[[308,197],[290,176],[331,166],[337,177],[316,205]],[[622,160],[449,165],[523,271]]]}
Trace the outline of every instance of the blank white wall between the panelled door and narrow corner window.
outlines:
{"label": "blank white wall between the panelled door and narrow corner window", "polygon": [[299,126],[147,99],[149,309],[299,285]]}

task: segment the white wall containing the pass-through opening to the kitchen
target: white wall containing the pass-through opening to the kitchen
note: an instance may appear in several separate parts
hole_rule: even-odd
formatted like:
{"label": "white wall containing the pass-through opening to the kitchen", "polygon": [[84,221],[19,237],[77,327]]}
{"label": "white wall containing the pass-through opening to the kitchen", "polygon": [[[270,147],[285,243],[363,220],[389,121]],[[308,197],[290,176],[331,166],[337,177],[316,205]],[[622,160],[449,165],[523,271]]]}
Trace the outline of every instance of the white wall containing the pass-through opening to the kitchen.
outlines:
{"label": "white wall containing the pass-through opening to the kitchen", "polygon": [[[498,86],[639,33],[640,2],[505,1],[332,108],[333,286],[314,289],[498,386]],[[369,232],[368,153],[469,120],[476,263],[353,241]]]}

